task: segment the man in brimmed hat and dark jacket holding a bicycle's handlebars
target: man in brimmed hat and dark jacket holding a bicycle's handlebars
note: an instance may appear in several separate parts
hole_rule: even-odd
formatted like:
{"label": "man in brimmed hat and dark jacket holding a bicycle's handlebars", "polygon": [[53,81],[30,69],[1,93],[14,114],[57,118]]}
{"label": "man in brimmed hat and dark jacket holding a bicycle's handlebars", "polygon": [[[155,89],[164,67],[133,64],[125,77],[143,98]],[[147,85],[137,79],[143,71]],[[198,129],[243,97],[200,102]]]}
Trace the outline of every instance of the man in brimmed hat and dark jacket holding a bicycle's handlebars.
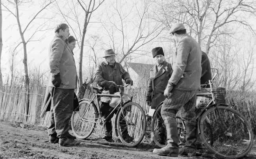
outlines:
{"label": "man in brimmed hat and dark jacket holding a bicycle's handlebars", "polygon": [[[123,66],[120,63],[117,63],[115,61],[115,52],[112,49],[106,50],[105,52],[105,61],[103,61],[101,64],[97,66],[96,72],[94,74],[94,80],[95,82],[104,88],[105,90],[109,90],[110,94],[114,94],[115,92],[118,92],[119,89],[109,85],[108,81],[113,81],[117,85],[123,85],[122,79],[125,81],[126,84],[133,85],[133,80],[130,78],[130,75],[127,71],[124,70]],[[106,118],[111,111],[113,110],[112,107],[110,107],[109,103],[102,102],[100,111],[102,113],[102,116]],[[115,112],[117,113],[117,112]],[[111,118],[109,121],[106,121],[105,123],[105,136],[103,139],[106,139],[107,141],[112,142],[112,123]],[[127,127],[126,129],[122,130],[124,139],[127,140],[133,140],[132,137],[129,136]]]}

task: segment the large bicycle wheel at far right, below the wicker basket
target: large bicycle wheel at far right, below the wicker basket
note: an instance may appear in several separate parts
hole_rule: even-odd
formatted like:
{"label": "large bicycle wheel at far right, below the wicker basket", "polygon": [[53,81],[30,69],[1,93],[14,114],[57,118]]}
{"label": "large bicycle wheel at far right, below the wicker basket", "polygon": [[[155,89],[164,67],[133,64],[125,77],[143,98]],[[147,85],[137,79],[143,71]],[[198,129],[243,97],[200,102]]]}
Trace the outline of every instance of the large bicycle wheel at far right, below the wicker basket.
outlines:
{"label": "large bicycle wheel at far right, below the wicker basket", "polygon": [[[208,126],[210,121],[214,142],[211,145]],[[199,120],[200,138],[214,154],[225,158],[240,158],[252,148],[251,124],[236,110],[227,106],[211,107]]]}

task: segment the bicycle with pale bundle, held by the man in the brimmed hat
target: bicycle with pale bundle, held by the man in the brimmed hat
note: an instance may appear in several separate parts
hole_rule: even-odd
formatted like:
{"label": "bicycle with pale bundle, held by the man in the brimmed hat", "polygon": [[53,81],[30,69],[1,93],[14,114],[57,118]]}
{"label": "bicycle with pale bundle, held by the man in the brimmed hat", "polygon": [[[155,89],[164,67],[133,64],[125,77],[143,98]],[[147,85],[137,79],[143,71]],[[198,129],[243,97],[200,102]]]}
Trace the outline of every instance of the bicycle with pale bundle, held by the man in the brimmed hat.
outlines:
{"label": "bicycle with pale bundle, held by the man in the brimmed hat", "polygon": [[[144,122],[146,121],[146,116],[144,110],[139,104],[132,102],[132,99],[123,102],[124,88],[129,84],[121,86],[112,81],[109,81],[109,83],[119,88],[120,95],[101,94],[103,91],[102,88],[93,87],[93,100],[86,98],[79,100],[79,111],[73,112],[72,114],[71,127],[73,133],[79,139],[88,138],[96,129],[96,126],[99,126],[100,129],[104,129],[105,122],[110,120],[110,116],[118,110],[115,116],[115,134],[124,145],[130,147],[136,146],[141,143],[146,131],[146,122]],[[99,100],[102,96],[120,98],[119,104],[113,108],[113,111],[106,118],[102,117],[99,109]],[[95,105],[95,99],[97,99],[97,105]],[[144,129],[141,129],[141,127]],[[127,129],[128,135],[134,138],[132,141],[124,138],[122,134],[122,130],[124,129]]]}

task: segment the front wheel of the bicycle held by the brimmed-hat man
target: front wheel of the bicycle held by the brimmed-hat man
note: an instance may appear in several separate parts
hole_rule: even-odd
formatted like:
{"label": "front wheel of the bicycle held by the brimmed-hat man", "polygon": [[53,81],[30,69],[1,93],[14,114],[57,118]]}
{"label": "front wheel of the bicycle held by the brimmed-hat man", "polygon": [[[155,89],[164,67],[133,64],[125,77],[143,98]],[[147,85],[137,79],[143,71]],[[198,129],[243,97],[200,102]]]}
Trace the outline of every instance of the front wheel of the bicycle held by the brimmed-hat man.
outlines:
{"label": "front wheel of the bicycle held by the brimmed-hat man", "polygon": [[137,146],[146,132],[146,115],[142,107],[129,102],[120,108],[117,114],[117,132],[120,140],[126,146]]}

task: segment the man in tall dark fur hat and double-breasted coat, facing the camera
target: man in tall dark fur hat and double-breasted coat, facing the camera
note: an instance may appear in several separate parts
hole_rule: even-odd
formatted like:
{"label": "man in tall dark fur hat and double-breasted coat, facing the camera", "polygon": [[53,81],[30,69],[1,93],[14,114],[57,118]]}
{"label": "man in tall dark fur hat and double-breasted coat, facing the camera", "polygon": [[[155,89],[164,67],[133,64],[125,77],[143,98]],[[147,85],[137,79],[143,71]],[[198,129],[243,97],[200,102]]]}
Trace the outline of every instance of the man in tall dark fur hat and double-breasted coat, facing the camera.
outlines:
{"label": "man in tall dark fur hat and double-breasted coat, facing the camera", "polygon": [[[172,75],[172,65],[165,61],[165,54],[162,47],[152,49],[155,65],[150,70],[146,103],[151,109],[156,109],[165,100],[164,90]],[[159,143],[165,145],[165,129],[162,120],[158,120]]]}

